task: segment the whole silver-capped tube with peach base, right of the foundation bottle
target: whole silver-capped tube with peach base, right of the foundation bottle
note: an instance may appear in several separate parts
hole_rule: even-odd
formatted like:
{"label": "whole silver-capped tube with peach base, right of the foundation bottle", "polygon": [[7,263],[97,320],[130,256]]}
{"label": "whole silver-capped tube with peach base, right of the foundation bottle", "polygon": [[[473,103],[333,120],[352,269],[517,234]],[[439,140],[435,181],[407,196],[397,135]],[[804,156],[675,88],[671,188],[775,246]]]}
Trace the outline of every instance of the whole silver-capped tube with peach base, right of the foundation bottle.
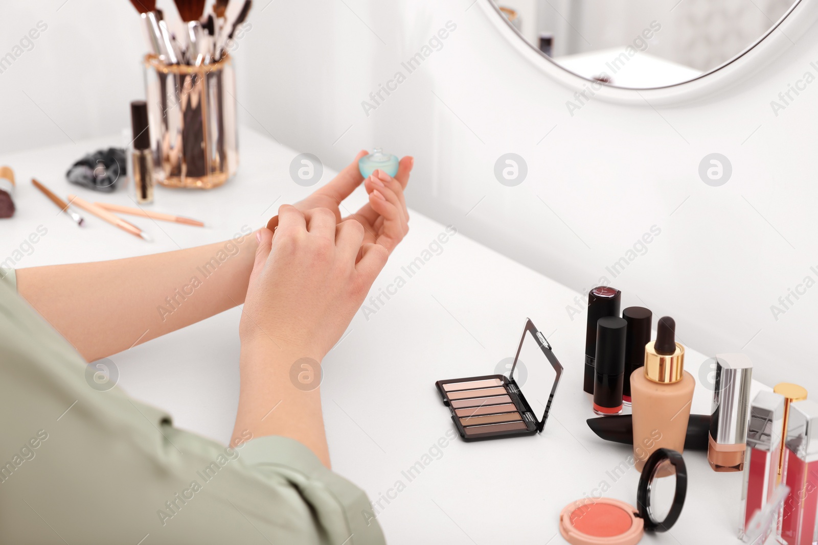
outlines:
{"label": "whole silver-capped tube with peach base, right of the foundation bottle", "polygon": [[708,462],[713,471],[743,471],[753,362],[744,354],[717,354]]}

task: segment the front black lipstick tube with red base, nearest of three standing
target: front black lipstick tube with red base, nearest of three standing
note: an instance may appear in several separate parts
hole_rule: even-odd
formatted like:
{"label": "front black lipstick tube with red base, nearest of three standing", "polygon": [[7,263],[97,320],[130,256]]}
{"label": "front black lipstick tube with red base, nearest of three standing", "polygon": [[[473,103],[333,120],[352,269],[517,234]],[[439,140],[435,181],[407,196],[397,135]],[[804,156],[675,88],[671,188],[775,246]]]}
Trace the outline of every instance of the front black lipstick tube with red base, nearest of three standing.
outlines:
{"label": "front black lipstick tube with red base, nearest of three standing", "polygon": [[622,413],[622,381],[625,377],[627,322],[616,316],[596,323],[594,412],[600,416]]}

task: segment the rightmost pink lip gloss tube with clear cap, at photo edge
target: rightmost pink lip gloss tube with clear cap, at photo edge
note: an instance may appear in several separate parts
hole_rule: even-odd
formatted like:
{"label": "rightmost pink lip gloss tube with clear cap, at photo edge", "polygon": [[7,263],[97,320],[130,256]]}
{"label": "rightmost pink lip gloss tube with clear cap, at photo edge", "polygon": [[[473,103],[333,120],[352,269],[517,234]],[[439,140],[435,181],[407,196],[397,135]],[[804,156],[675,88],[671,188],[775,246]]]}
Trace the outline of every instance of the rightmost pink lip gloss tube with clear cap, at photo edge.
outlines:
{"label": "rightmost pink lip gloss tube with clear cap, at photo edge", "polygon": [[781,509],[779,542],[813,545],[818,512],[818,403],[795,401],[789,407],[784,441],[784,477],[789,494]]}

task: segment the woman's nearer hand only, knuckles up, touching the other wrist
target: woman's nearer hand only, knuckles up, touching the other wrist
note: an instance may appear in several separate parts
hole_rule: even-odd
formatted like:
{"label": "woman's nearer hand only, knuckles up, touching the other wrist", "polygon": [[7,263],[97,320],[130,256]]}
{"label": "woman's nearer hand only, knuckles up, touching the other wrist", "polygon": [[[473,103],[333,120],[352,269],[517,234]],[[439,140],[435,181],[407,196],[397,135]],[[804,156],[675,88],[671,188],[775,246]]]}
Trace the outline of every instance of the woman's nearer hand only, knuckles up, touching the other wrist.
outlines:
{"label": "woman's nearer hand only, knuckles up, touching the other wrist", "polygon": [[[320,361],[361,306],[389,252],[327,208],[279,208],[276,236],[258,230],[240,336]],[[362,254],[357,261],[359,253]]]}

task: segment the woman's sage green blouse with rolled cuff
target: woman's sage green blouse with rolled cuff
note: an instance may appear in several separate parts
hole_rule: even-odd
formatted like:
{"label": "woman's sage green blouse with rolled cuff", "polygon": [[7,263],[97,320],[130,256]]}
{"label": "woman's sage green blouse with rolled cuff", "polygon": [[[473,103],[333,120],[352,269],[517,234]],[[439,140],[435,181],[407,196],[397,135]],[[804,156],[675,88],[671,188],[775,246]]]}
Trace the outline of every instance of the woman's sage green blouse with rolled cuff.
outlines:
{"label": "woman's sage green blouse with rolled cuff", "polygon": [[366,494],[298,441],[226,448],[87,369],[0,270],[0,543],[384,543]]}

